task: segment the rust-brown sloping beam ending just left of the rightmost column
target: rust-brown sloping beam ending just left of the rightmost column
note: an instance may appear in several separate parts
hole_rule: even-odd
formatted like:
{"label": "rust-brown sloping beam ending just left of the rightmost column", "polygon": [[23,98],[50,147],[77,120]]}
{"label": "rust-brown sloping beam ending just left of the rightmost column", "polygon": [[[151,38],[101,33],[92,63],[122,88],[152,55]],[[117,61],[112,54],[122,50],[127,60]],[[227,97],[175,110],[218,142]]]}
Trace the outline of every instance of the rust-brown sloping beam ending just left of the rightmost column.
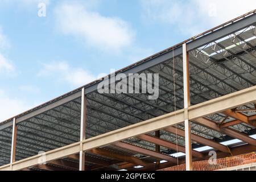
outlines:
{"label": "rust-brown sloping beam ending just left of the rightmost column", "polygon": [[167,160],[169,162],[177,163],[176,159],[171,156],[160,154],[152,150],[147,150],[146,148],[134,146],[133,144],[129,144],[125,142],[117,142],[117,143],[114,143],[114,146],[125,148],[126,150],[130,150],[130,151],[138,152],[138,154],[148,155],[156,159]]}

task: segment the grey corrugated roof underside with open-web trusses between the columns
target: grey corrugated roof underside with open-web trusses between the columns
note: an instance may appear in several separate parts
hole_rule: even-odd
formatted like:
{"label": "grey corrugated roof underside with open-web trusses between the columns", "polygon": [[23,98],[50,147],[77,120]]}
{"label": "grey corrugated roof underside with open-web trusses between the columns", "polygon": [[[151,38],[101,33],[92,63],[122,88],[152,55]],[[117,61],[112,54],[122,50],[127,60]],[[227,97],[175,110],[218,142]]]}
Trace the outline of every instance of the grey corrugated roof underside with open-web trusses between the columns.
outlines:
{"label": "grey corrugated roof underside with open-web trusses between the columns", "polygon": [[[249,26],[225,38],[189,51],[191,104],[196,105],[256,85],[255,46],[256,28]],[[159,73],[159,98],[148,100],[148,94],[100,94],[97,90],[90,92],[86,95],[86,138],[183,108],[182,55],[169,57],[163,63],[138,73]],[[253,104],[249,104],[240,109],[254,108]],[[49,151],[78,142],[80,110],[81,98],[77,98],[19,122],[17,124],[16,160],[36,155],[39,151]],[[247,111],[243,114],[253,115],[255,111]],[[209,115],[208,118],[220,122],[225,115],[218,113]],[[225,122],[233,120],[229,117]],[[184,129],[183,124],[177,127]],[[253,127],[243,123],[232,127],[247,135],[255,134]],[[0,131],[0,166],[10,162],[11,133],[11,126]],[[229,139],[224,134],[196,123],[192,123],[192,133],[218,142]],[[161,130],[160,138],[184,146],[184,138],[177,137],[175,134]],[[155,150],[155,144],[138,138],[128,139],[125,142]],[[193,142],[193,148],[196,147],[201,147],[201,145]],[[165,154],[175,153],[175,151],[164,147],[161,147],[160,150]],[[115,151],[120,154],[138,156],[134,152],[124,151],[117,147],[115,147]],[[147,160],[154,161],[151,158]]]}

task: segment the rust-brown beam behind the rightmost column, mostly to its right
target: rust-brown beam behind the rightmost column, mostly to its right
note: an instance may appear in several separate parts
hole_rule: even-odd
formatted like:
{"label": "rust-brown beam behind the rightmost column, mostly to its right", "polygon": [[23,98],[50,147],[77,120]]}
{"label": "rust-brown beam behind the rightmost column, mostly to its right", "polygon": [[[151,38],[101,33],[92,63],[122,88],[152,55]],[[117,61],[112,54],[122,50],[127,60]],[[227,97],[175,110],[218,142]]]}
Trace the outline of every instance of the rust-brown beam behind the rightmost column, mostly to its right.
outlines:
{"label": "rust-brown beam behind the rightmost column, mostly to its right", "polygon": [[[170,133],[176,133],[177,131],[177,135],[181,136],[181,137],[184,137],[185,136],[185,132],[184,130],[181,130],[181,129],[176,129],[175,127],[167,127],[166,129],[164,129]],[[220,143],[217,143],[217,142],[214,142],[213,140],[209,140],[209,139],[206,139],[204,137],[200,137],[199,135],[196,135],[196,134],[191,134],[191,139],[197,143],[201,143],[201,144],[204,144],[205,146],[209,146],[209,147],[213,147],[215,148],[216,150],[220,150],[222,152],[226,152],[226,153],[229,153],[229,149],[228,147],[224,146],[223,144],[220,144]]]}

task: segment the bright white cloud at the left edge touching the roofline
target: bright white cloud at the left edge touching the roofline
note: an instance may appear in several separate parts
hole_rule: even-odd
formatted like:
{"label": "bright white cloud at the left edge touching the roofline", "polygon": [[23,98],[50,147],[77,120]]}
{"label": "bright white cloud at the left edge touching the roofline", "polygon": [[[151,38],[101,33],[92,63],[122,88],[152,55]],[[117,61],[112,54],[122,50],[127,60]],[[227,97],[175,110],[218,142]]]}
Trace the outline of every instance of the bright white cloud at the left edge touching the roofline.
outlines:
{"label": "bright white cloud at the left edge touching the roofline", "polygon": [[26,101],[17,100],[7,96],[3,90],[0,90],[0,103],[0,122],[13,117],[14,115],[20,114],[34,106],[28,105]]}

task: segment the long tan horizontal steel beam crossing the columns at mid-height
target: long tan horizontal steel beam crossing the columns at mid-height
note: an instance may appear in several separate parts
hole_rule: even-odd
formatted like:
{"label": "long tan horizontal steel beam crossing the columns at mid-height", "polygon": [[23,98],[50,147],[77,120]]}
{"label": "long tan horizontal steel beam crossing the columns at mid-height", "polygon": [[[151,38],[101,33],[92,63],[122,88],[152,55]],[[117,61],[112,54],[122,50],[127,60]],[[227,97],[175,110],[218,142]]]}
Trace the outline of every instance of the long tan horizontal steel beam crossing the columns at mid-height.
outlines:
{"label": "long tan horizontal steel beam crossing the columns at mid-height", "polygon": [[[194,106],[188,107],[188,118],[193,121],[205,115],[220,113],[221,111],[234,108],[241,105],[256,102],[256,86],[247,88],[226,96],[203,102]],[[82,141],[83,151],[89,151],[93,148],[108,146],[109,144],[125,140],[138,135],[150,133],[152,131],[164,129],[166,127],[181,123],[184,121],[184,109],[173,113],[165,114],[160,117],[148,119],[147,121],[123,127],[106,134],[98,135],[97,137],[85,139]],[[252,138],[251,138],[252,139]],[[46,152],[46,162],[54,159],[63,158],[71,154],[80,152],[80,142],[69,144],[68,146],[56,148],[55,150]],[[38,164],[40,155],[32,156],[13,163],[13,170],[19,170],[26,167],[35,166]],[[1,166],[0,170],[11,170],[10,164]]]}

